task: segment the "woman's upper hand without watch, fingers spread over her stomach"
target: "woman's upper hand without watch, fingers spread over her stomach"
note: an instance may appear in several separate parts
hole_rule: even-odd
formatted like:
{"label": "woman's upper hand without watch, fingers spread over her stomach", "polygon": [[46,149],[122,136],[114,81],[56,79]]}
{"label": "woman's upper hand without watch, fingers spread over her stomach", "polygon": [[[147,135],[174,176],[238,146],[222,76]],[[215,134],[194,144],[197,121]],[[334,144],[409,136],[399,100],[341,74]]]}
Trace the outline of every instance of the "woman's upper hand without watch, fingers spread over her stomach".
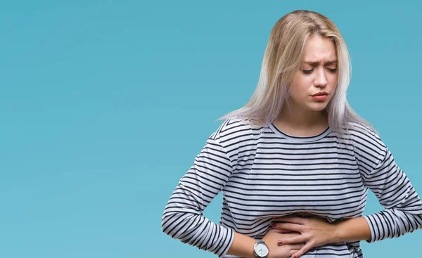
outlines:
{"label": "woman's upper hand without watch, fingers spread over her stomach", "polygon": [[335,224],[330,224],[321,217],[277,217],[274,219],[273,228],[276,231],[296,231],[300,236],[279,240],[279,245],[306,243],[302,249],[292,255],[298,258],[312,247],[334,243]]}

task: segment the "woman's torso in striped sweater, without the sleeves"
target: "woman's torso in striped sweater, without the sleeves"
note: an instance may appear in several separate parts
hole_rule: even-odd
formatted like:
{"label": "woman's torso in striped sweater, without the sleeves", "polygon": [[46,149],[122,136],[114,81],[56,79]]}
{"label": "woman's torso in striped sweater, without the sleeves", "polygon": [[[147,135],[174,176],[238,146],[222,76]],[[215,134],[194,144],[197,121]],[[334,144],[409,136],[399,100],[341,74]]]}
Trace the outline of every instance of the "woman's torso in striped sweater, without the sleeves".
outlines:
{"label": "woman's torso in striped sweater, without the sleeves", "polygon": [[[288,136],[269,124],[234,130],[236,134],[238,139],[245,134],[244,141],[224,143],[236,165],[223,188],[223,226],[262,238],[274,217],[298,212],[328,221],[362,216],[366,187],[353,147],[342,145],[330,129],[300,137]],[[341,249],[335,254],[360,253],[359,243],[334,246],[330,248]]]}

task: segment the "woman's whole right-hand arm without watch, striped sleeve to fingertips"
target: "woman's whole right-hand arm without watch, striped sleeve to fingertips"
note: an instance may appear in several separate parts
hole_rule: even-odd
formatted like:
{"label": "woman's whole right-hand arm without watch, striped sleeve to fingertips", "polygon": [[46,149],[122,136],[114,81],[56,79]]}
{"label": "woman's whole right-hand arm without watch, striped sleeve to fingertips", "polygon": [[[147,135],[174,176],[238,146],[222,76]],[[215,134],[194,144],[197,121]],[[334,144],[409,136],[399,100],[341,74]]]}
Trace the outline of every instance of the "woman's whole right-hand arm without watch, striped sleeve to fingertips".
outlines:
{"label": "woman's whole right-hand arm without watch, striped sleeve to fingertips", "polygon": [[392,154],[373,131],[353,131],[354,153],[365,186],[375,193],[384,209],[376,214],[328,224],[320,218],[279,218],[279,230],[302,236],[281,244],[307,242],[299,257],[312,247],[327,243],[366,240],[369,243],[395,238],[422,227],[422,202]]}

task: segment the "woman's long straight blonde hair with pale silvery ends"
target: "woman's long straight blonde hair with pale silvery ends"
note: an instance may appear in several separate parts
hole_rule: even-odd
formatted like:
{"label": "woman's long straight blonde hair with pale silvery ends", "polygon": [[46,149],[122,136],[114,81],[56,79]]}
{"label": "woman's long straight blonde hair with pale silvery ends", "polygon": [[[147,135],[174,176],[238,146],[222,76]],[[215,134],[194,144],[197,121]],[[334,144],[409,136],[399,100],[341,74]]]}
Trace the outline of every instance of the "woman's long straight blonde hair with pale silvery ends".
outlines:
{"label": "woman's long straight blonde hair with pale silvery ends", "polygon": [[288,105],[293,75],[300,69],[305,45],[314,35],[331,39],[337,51],[338,82],[333,98],[326,107],[329,126],[338,133],[345,133],[350,122],[371,127],[347,103],[351,64],[340,31],[324,15],[305,10],[288,13],[276,22],[269,35],[255,92],[243,108],[229,112],[220,119],[241,118],[256,125],[274,122],[283,105]]}

